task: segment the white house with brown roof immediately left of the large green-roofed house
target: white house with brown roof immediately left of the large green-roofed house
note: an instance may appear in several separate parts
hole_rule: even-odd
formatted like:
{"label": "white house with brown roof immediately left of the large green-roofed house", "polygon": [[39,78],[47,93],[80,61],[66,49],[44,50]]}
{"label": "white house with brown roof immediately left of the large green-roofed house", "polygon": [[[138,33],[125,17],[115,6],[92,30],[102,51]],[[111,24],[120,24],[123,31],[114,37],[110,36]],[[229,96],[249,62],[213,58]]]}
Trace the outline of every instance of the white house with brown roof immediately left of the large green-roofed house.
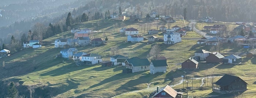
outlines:
{"label": "white house with brown roof immediately left of the large green-roofed house", "polygon": [[116,55],[116,56],[111,56],[110,61],[112,62],[112,65],[124,65],[124,62],[126,59],[129,59],[128,57],[122,56],[122,55]]}

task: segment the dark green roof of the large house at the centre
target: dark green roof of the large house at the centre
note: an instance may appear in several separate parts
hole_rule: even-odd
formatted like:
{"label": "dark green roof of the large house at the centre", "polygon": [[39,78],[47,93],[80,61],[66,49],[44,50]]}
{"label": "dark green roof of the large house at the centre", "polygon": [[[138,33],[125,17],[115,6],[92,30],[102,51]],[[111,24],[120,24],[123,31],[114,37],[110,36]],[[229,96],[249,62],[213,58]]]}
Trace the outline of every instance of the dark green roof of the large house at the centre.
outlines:
{"label": "dark green roof of the large house at the centre", "polygon": [[126,61],[133,66],[144,66],[150,64],[148,59],[140,59],[139,57],[132,57],[131,59],[126,59]]}

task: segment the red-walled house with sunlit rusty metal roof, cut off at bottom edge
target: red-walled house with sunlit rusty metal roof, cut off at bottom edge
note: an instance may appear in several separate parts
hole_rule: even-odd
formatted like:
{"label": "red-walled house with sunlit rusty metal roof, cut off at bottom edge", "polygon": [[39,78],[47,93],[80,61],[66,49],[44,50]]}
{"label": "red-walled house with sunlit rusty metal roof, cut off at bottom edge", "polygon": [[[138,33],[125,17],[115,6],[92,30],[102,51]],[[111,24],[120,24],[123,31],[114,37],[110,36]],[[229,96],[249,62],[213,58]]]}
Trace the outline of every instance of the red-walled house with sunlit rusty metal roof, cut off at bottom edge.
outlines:
{"label": "red-walled house with sunlit rusty metal roof, cut off at bottom edge", "polygon": [[152,98],[182,98],[182,93],[175,91],[170,86],[165,86],[158,91],[158,87],[156,89],[156,93],[152,96]]}

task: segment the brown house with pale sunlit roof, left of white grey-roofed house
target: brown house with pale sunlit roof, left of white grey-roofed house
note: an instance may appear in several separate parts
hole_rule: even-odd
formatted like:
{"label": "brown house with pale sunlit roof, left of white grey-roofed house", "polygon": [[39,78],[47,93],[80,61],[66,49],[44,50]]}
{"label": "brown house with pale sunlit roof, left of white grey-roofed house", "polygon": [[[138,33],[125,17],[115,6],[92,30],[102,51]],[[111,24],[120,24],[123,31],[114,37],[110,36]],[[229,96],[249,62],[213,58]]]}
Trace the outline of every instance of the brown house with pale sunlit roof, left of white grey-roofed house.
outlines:
{"label": "brown house with pale sunlit roof, left of white grey-roofed house", "polygon": [[206,57],[205,61],[207,63],[220,63],[222,62],[224,56],[219,52],[210,53],[208,57]]}

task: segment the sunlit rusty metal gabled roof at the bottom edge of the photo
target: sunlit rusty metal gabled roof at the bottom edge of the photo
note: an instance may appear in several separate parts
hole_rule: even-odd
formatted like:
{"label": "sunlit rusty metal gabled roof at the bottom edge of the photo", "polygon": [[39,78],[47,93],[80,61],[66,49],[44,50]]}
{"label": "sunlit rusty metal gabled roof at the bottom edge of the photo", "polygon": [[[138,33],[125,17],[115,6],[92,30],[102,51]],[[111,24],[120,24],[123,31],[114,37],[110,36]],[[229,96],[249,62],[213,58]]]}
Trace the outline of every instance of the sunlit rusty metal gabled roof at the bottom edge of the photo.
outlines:
{"label": "sunlit rusty metal gabled roof at the bottom edge of the photo", "polygon": [[155,97],[157,94],[159,94],[162,91],[165,91],[167,94],[169,94],[173,98],[175,98],[177,96],[177,93],[178,93],[173,88],[171,88],[170,86],[167,85],[166,87],[161,88],[155,95],[153,95],[153,97]]}

